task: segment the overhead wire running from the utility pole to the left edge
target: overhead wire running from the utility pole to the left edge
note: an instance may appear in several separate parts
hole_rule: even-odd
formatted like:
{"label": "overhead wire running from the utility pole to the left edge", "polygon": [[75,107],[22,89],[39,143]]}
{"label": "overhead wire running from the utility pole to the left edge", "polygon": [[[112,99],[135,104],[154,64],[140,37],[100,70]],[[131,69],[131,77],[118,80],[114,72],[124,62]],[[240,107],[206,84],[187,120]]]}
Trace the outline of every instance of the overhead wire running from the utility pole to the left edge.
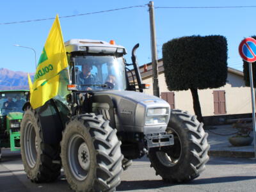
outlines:
{"label": "overhead wire running from the utility pole to the left edge", "polygon": [[[68,17],[83,16],[83,15],[92,15],[92,14],[97,14],[97,13],[115,12],[115,11],[119,11],[119,10],[127,10],[127,9],[131,9],[131,8],[141,8],[141,7],[145,7],[145,6],[146,5],[127,6],[127,7],[123,7],[123,8],[104,10],[104,11],[100,11],[100,12],[89,12],[89,13],[81,13],[81,14],[77,14],[77,15],[67,15],[67,16],[62,16],[59,18],[68,18]],[[36,21],[52,20],[52,19],[55,19],[55,17],[49,17],[49,18],[45,18],[45,19],[21,20],[21,21],[14,21],[14,22],[3,22],[3,23],[0,23],[0,25],[19,24],[19,23],[25,23],[25,22],[36,22]]]}

